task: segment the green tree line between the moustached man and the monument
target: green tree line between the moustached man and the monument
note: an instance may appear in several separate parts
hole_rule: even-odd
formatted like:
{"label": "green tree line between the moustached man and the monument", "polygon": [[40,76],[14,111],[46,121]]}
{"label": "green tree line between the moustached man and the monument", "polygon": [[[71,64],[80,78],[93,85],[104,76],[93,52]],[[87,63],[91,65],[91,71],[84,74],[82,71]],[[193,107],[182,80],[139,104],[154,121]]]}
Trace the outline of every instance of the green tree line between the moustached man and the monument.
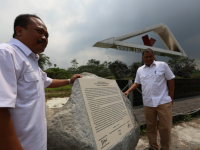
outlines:
{"label": "green tree line between the moustached man and the monument", "polygon": [[[52,65],[50,58],[45,54],[39,54],[40,59],[38,61],[39,67],[47,73],[47,76],[54,79],[68,79],[71,78],[73,74],[80,74],[82,72],[89,72],[96,74],[97,76],[106,78],[112,76],[112,73],[108,69],[111,62],[104,61],[101,63],[100,60],[90,59],[86,65],[78,66],[76,59],[71,60],[72,66],[66,69],[61,69],[57,67],[56,64]],[[53,67],[52,67],[53,66]],[[45,69],[45,67],[49,67]]]}

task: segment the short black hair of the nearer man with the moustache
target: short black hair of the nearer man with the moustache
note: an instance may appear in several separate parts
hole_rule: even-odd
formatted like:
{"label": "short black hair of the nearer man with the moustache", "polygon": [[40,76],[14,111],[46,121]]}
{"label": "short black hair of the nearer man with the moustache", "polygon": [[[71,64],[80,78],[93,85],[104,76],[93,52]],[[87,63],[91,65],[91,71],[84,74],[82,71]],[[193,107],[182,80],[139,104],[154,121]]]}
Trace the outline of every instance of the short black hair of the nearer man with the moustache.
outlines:
{"label": "short black hair of the nearer man with the moustache", "polygon": [[[30,21],[30,18],[31,17],[35,17],[35,18],[38,18],[40,19],[38,16],[34,15],[34,14],[21,14],[19,16],[17,16],[15,18],[15,21],[14,21],[14,33],[13,33],[13,38],[16,36],[16,31],[15,31],[15,28],[17,26],[20,26],[20,27],[23,27],[23,28],[27,28],[28,26],[28,23]],[[42,19],[40,19],[42,21]]]}

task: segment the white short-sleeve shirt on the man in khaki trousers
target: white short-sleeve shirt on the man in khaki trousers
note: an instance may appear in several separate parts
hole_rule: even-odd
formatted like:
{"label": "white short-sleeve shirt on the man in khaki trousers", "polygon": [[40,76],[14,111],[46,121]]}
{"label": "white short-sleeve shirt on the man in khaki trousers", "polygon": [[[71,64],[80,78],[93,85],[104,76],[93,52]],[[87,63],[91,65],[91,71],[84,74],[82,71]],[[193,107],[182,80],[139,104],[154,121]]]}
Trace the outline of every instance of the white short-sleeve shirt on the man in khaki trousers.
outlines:
{"label": "white short-sleeve shirt on the man in khaki trousers", "polygon": [[135,83],[142,85],[144,106],[157,107],[171,102],[167,80],[175,76],[165,62],[154,61],[150,67],[143,65],[137,70]]}

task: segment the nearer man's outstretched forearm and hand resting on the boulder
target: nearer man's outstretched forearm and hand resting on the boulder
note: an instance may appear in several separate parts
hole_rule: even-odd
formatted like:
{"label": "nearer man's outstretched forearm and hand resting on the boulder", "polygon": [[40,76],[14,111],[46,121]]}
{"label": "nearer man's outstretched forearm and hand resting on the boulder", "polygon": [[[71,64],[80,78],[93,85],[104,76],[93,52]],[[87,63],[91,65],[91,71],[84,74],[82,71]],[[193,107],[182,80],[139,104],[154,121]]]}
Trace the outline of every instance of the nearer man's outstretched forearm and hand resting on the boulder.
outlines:
{"label": "nearer man's outstretched forearm and hand resting on the boulder", "polygon": [[[82,78],[82,76],[80,74],[75,74],[73,75],[73,77],[70,79],[70,82],[71,83],[74,83],[74,81],[77,79],[77,78]],[[57,88],[57,87],[61,87],[61,86],[65,86],[65,85],[68,85],[69,84],[69,81],[68,79],[53,79],[52,80],[52,83],[47,87],[47,88]]]}

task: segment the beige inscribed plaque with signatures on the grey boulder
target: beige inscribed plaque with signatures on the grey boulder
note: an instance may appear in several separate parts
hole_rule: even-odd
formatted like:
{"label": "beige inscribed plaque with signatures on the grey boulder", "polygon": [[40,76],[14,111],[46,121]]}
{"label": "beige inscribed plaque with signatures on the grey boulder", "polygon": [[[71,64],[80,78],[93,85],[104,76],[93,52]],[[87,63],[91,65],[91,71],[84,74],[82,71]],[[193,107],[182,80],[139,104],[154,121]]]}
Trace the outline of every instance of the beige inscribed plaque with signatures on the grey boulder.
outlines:
{"label": "beige inscribed plaque with signatures on the grey boulder", "polygon": [[79,79],[98,150],[106,150],[133,128],[115,80]]}

